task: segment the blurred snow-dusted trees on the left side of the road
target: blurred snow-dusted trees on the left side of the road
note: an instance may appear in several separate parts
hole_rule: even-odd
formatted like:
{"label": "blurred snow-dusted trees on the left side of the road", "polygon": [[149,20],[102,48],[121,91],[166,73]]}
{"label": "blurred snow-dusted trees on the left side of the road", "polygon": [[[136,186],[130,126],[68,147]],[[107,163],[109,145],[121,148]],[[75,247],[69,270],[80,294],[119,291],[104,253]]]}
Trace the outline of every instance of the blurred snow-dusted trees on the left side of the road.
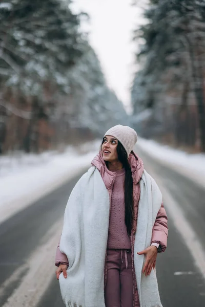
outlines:
{"label": "blurred snow-dusted trees on the left side of the road", "polygon": [[125,123],[67,0],[0,3],[0,153],[39,152]]}

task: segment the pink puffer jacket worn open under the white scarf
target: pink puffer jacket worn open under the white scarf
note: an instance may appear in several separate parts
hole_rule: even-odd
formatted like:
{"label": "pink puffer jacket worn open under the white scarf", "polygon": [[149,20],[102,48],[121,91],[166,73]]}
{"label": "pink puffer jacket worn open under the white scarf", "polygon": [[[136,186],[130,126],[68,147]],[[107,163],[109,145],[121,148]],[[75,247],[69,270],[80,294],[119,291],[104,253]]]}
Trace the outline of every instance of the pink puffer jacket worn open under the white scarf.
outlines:
{"label": "pink puffer jacket worn open under the white scarf", "polygon": [[[136,154],[135,154],[136,155]],[[133,231],[131,233],[131,250],[132,250],[132,268],[133,268],[133,293],[134,293],[134,302],[133,307],[139,306],[139,300],[138,300],[138,292],[137,292],[137,284],[136,284],[136,278],[134,274],[134,242],[135,242],[135,232],[137,227],[137,211],[138,211],[138,202],[139,202],[139,196],[140,196],[140,186],[139,186],[139,180],[142,176],[142,172],[144,170],[144,164],[142,160],[136,155],[133,156],[130,154],[129,156],[129,163],[131,166],[132,171],[132,178],[133,178],[133,198],[134,198],[134,225],[133,225]],[[106,188],[109,192],[110,199],[112,194],[112,187],[114,184],[116,173],[109,171],[107,168],[105,161],[103,160],[103,157],[101,156],[101,153],[99,152],[97,156],[93,159],[91,162],[92,165],[94,165],[100,172],[101,177],[103,178],[103,181],[106,185]],[[161,208],[157,214],[156,221],[153,227],[152,231],[152,240],[151,243],[156,242],[160,244],[160,250],[161,252],[164,252],[167,247],[167,237],[168,237],[168,225],[167,225],[168,219],[167,214],[165,211],[165,208],[163,206],[163,203],[161,204]],[[56,251],[56,259],[55,259],[55,265],[59,266],[60,264],[69,264],[68,259],[65,254],[61,253],[59,250],[59,244],[57,246]],[[107,280],[107,268],[105,266],[105,284]]]}

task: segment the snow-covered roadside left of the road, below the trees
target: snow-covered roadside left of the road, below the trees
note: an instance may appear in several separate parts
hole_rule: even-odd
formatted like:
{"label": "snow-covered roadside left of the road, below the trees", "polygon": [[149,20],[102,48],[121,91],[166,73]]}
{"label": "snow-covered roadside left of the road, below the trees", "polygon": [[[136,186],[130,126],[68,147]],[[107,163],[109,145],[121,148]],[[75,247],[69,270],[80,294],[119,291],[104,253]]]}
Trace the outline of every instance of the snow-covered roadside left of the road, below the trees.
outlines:
{"label": "snow-covered roadside left of the road, below the trees", "polygon": [[0,157],[0,223],[88,168],[99,144],[68,146],[63,153]]}

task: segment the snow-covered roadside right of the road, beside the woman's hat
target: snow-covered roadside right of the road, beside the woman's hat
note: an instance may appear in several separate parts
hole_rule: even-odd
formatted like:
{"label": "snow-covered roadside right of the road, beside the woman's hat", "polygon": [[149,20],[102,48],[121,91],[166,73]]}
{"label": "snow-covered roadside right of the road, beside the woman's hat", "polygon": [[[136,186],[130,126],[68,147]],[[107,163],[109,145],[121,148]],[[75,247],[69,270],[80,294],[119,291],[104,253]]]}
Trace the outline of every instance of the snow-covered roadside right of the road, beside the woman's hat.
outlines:
{"label": "snow-covered roadside right of the road, beside the woman's hat", "polygon": [[161,145],[153,140],[139,138],[136,148],[146,151],[150,156],[160,161],[162,164],[172,167],[179,173],[196,181],[205,188],[205,154],[191,154]]}

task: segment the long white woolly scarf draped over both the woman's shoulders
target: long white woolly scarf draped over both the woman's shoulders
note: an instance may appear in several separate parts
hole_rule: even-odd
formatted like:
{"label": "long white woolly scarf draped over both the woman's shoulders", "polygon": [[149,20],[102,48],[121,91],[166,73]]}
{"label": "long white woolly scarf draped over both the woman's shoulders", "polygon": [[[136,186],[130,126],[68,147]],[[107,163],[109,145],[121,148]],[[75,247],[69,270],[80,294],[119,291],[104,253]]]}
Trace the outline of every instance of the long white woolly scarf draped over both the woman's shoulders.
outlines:
{"label": "long white woolly scarf draped over both the woman's shoulders", "polygon": [[[140,180],[134,263],[140,307],[162,307],[157,279],[141,273],[144,256],[138,251],[150,246],[152,228],[161,206],[161,192],[144,170]],[[110,199],[99,171],[92,166],[69,197],[60,251],[67,255],[67,278],[59,276],[60,291],[67,307],[105,307],[104,267],[107,249]]]}

